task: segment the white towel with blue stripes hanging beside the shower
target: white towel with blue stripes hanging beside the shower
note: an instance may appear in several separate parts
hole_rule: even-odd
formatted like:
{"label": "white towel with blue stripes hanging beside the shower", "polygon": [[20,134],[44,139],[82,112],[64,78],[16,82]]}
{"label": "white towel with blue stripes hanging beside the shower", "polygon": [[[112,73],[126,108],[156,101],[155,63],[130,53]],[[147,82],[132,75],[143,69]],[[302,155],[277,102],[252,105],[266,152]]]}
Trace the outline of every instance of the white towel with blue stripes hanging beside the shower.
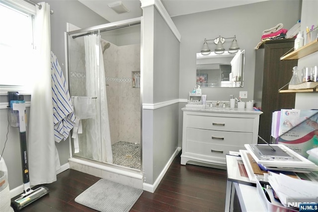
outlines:
{"label": "white towel with blue stripes hanging beside the shower", "polygon": [[74,109],[58,59],[51,52],[54,137],[56,142],[66,140],[75,125]]}

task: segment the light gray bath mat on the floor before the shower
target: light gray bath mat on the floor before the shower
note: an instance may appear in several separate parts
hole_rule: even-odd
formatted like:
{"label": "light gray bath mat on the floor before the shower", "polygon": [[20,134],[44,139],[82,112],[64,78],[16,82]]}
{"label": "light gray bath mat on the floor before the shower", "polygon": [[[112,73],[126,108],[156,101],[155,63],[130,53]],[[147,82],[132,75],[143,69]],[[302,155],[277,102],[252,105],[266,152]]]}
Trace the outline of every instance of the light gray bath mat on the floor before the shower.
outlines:
{"label": "light gray bath mat on the floor before the shower", "polygon": [[128,212],[142,189],[100,179],[75,198],[75,202],[100,212]]}

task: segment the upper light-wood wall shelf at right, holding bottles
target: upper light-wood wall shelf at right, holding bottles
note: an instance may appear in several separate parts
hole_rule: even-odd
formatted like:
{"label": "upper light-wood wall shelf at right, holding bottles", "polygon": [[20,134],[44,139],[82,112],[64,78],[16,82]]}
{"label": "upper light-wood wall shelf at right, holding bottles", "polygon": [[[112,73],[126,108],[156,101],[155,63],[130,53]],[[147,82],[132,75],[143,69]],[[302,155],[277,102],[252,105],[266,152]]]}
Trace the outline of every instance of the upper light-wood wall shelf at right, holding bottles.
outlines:
{"label": "upper light-wood wall shelf at right, holding bottles", "polygon": [[305,46],[299,48],[296,51],[293,51],[287,55],[284,55],[280,58],[280,60],[297,60],[307,55],[310,55],[314,52],[318,51],[318,39],[306,44]]}

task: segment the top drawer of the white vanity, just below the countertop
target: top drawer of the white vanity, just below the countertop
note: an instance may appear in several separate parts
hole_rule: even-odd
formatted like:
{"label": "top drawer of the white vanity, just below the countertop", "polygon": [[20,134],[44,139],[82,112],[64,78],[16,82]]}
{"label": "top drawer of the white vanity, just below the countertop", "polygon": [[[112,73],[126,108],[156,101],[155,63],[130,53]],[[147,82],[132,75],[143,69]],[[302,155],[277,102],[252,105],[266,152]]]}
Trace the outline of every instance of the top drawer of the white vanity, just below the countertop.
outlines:
{"label": "top drawer of the white vanity, just below the countertop", "polygon": [[255,119],[253,118],[200,116],[188,114],[186,119],[187,127],[191,128],[235,132],[254,131]]}

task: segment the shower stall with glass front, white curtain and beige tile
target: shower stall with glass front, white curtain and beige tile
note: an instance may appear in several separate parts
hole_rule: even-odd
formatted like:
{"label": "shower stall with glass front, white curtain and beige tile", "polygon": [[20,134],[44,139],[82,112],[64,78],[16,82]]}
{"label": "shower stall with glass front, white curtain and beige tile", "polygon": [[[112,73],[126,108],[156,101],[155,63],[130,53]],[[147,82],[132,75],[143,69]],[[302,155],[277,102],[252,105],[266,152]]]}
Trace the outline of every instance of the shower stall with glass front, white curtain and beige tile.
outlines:
{"label": "shower stall with glass front, white curtain and beige tile", "polygon": [[141,18],[68,28],[72,158],[142,174]]}

